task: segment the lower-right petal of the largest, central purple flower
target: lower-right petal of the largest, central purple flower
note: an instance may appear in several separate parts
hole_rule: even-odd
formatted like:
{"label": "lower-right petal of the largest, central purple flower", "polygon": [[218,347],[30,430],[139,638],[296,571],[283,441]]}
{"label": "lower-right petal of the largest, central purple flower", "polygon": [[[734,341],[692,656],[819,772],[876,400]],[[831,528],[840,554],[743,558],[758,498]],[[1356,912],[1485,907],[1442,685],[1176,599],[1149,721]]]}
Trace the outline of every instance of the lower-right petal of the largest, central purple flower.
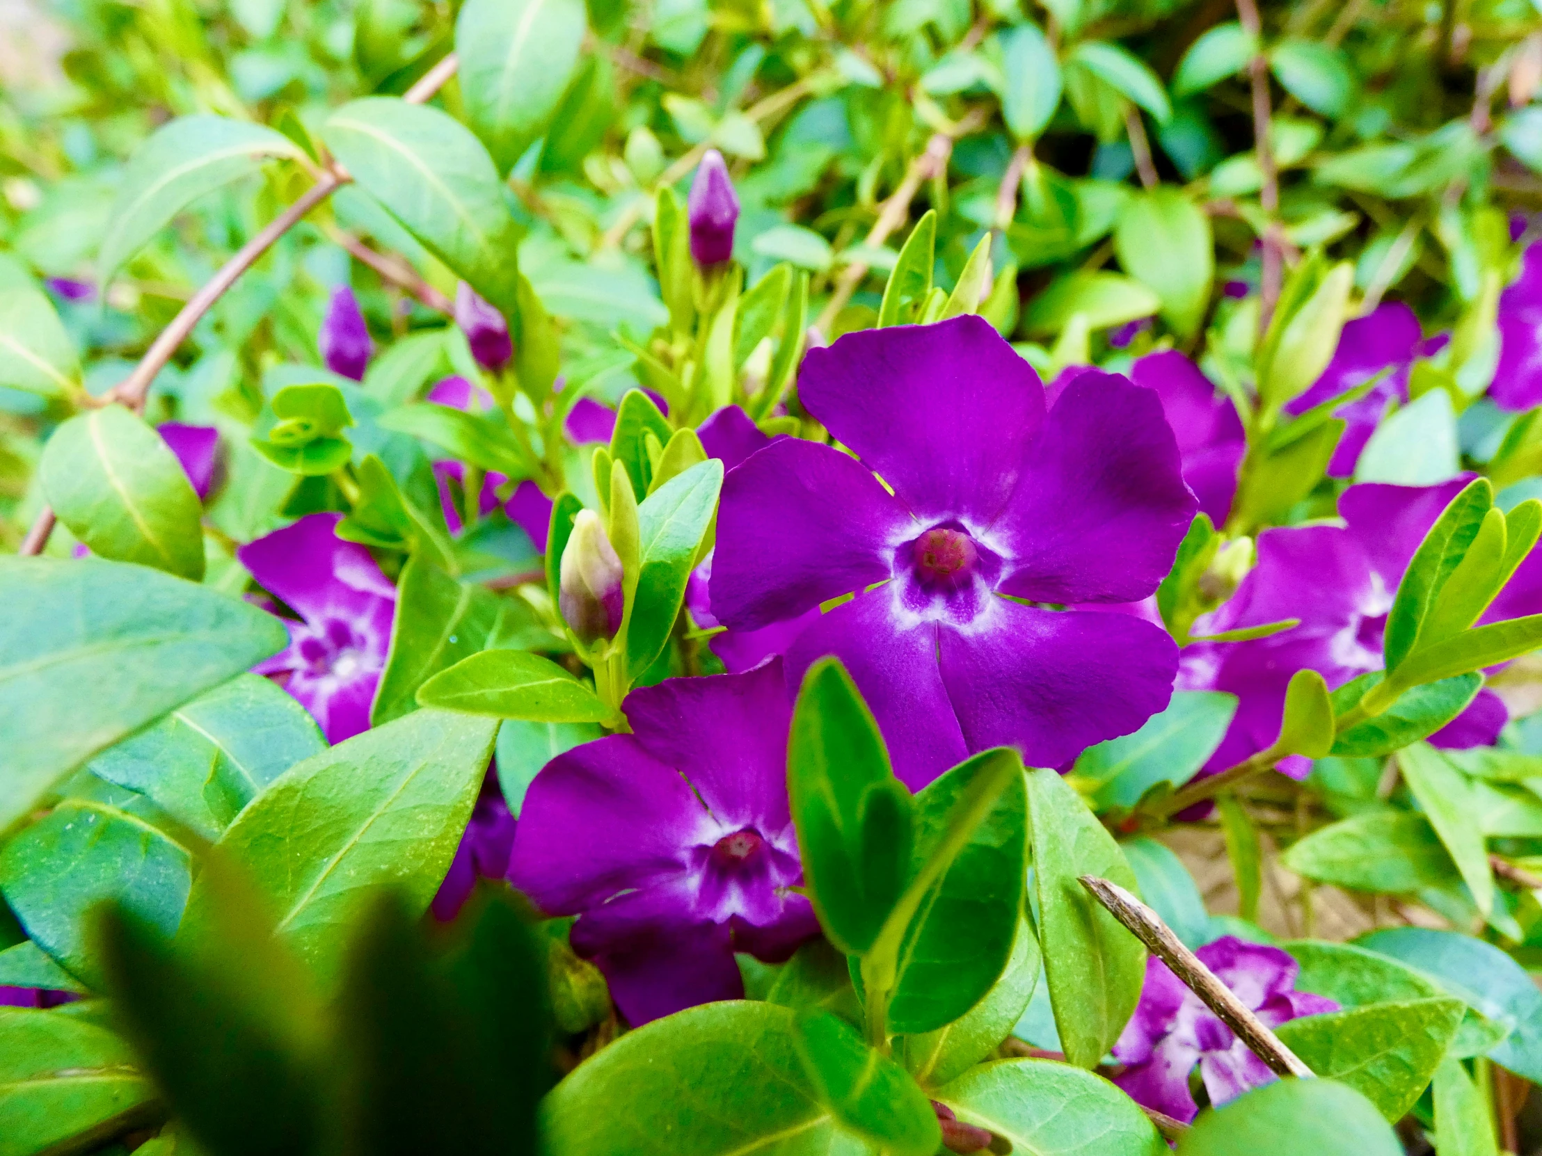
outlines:
{"label": "lower-right petal of the largest, central purple flower", "polygon": [[1167,706],[1178,647],[1126,613],[1039,610],[995,600],[967,630],[938,630],[942,683],[970,751],[1016,746],[1061,766]]}

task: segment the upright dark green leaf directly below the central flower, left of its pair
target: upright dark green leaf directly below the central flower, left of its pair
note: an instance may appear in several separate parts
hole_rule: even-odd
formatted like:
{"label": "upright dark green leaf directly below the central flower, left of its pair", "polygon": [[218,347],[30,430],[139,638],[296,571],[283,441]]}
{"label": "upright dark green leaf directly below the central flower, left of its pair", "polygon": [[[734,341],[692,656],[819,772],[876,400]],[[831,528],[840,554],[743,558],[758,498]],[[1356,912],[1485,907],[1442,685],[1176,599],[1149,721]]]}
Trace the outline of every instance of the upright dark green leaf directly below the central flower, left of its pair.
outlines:
{"label": "upright dark green leaf directly below the central flower, left of its pair", "polygon": [[788,795],[808,896],[830,942],[867,951],[910,872],[910,792],[836,658],[803,675],[788,737]]}

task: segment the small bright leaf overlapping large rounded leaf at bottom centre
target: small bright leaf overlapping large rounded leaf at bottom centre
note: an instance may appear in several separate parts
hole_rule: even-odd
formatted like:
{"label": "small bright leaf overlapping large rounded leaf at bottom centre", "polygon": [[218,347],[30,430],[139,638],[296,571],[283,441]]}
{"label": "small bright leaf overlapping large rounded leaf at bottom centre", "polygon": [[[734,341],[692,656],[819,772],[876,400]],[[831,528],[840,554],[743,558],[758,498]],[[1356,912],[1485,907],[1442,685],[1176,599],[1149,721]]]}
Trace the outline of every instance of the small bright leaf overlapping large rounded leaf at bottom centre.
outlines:
{"label": "small bright leaf overlapping large rounded leaf at bottom centre", "polygon": [[797,1054],[836,1121],[894,1156],[933,1156],[938,1116],[910,1074],[828,1011],[797,1019]]}

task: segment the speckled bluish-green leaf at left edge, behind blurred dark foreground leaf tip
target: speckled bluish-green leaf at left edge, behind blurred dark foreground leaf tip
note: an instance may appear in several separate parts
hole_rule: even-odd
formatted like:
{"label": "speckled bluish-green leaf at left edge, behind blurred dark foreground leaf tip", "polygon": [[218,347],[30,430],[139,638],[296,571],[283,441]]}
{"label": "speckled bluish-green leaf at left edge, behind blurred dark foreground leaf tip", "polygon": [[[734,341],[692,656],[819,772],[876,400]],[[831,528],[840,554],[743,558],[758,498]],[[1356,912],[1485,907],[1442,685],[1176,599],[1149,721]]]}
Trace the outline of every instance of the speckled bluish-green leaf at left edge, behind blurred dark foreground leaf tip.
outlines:
{"label": "speckled bluish-green leaf at left edge, behind blurred dark foreground leaf tip", "polygon": [[28,937],[86,986],[102,990],[86,912],[103,900],[170,936],[191,885],[188,849],[103,803],[66,801],[0,851],[0,892]]}

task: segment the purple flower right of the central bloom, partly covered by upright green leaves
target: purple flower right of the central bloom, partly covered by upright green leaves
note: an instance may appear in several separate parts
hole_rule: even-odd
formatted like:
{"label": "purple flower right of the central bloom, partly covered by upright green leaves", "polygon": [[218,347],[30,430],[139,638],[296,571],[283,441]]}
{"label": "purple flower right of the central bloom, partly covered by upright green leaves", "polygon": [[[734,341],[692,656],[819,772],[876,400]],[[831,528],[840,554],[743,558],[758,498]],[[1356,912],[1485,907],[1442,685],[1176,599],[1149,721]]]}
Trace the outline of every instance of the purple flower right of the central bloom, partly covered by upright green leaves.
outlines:
{"label": "purple flower right of the central bloom, partly covered by upright green leaves", "polygon": [[[1235,694],[1237,715],[1206,772],[1221,771],[1268,748],[1280,734],[1284,689],[1297,670],[1314,669],[1331,689],[1382,669],[1386,613],[1409,558],[1446,504],[1466,484],[1351,486],[1338,499],[1345,526],[1300,526],[1258,535],[1258,564],[1237,593],[1195,630],[1215,633],[1300,618],[1300,626],[1247,643],[1198,643],[1183,652],[1180,686]],[[1542,570],[1528,560],[1483,615],[1497,621],[1542,610]],[[1485,746],[1508,712],[1493,691],[1431,735],[1436,746]],[[1291,755],[1280,771],[1305,778],[1311,763]]]}

